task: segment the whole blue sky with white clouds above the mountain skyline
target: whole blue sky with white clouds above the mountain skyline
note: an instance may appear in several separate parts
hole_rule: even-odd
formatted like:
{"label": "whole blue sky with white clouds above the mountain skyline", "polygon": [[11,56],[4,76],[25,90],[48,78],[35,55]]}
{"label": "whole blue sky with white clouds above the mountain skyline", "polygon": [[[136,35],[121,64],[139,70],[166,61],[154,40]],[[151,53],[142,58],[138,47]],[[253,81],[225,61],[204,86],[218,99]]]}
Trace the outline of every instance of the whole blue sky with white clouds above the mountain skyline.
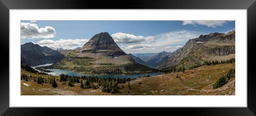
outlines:
{"label": "whole blue sky with white clouds above the mountain skyline", "polygon": [[127,54],[172,52],[187,40],[235,30],[235,21],[21,21],[21,44],[74,49],[108,32]]}

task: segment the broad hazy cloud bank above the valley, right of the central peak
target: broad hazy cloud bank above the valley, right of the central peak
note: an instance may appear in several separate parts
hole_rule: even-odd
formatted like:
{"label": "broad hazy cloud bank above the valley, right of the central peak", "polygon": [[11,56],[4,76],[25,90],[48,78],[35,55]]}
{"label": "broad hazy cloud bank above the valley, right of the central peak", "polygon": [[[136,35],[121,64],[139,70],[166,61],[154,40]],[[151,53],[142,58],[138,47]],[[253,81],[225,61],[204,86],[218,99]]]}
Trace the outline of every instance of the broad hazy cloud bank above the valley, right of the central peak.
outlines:
{"label": "broad hazy cloud bank above the valley, right of the central peak", "polygon": [[[152,37],[154,43],[145,41],[139,43],[118,43],[118,45],[122,50],[124,50],[125,53],[159,53],[162,51],[173,52],[178,48],[181,48],[181,45],[184,45],[189,39],[197,38],[202,34],[207,33],[178,30],[155,35]],[[115,40],[115,42],[116,41],[117,40]]]}

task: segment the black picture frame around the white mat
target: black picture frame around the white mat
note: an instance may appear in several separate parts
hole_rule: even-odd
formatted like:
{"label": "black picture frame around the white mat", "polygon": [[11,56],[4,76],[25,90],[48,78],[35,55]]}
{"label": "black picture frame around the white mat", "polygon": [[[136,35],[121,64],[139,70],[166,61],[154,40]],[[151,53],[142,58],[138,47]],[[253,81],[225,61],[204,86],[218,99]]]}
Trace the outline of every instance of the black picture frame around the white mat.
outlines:
{"label": "black picture frame around the white mat", "polygon": [[[247,9],[247,107],[201,107],[201,108],[171,108],[168,112],[177,112],[179,115],[204,115],[204,116],[255,116],[256,114],[256,79],[253,70],[256,66],[253,55],[256,41],[256,2],[255,0],[126,0],[126,1],[96,1],[96,0],[0,0],[0,115],[73,115],[83,109],[61,109],[53,108],[14,108],[9,107],[9,10],[10,9]],[[238,46],[239,49],[239,46]],[[9,61],[9,62],[8,62]],[[246,77],[236,77],[246,78]],[[235,102],[235,101],[234,101]],[[90,111],[92,109],[85,108]],[[107,113],[109,109],[102,109],[99,114]],[[122,110],[133,114],[133,108]],[[156,109],[157,111],[158,109]],[[65,112],[70,111],[70,112]],[[77,112],[76,112],[77,111]],[[144,110],[140,111],[141,113]],[[145,110],[144,113],[150,110]],[[139,114],[141,114],[139,113]],[[144,114],[142,113],[142,114]],[[152,114],[152,112],[149,112]],[[158,112],[158,115],[164,113]],[[154,113],[153,113],[154,114]],[[138,115],[138,114],[137,114]]]}

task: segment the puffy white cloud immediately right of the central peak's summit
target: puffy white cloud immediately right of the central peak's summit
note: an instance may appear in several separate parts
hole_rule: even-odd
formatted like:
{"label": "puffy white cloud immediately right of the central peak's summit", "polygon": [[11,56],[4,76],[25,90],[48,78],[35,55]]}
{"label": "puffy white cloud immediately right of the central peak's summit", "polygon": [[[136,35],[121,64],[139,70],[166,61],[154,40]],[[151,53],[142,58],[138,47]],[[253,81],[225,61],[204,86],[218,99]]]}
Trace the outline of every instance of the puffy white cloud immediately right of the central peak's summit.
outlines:
{"label": "puffy white cloud immediately right of the central peak's summit", "polygon": [[132,43],[156,43],[154,41],[153,36],[143,37],[143,36],[136,36],[133,34],[126,34],[126,33],[115,33],[111,35],[112,38],[116,43],[125,43],[125,44],[132,44]]}

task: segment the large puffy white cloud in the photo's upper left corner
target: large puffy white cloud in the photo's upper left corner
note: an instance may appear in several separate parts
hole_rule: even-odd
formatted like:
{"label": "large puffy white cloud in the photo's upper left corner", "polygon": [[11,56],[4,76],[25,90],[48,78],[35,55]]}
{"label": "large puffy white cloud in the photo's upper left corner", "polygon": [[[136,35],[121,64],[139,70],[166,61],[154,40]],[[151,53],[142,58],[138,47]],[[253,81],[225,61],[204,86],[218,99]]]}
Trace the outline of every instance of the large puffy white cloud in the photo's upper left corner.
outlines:
{"label": "large puffy white cloud in the photo's upper left corner", "polygon": [[20,23],[20,37],[21,38],[53,38],[56,34],[53,27],[46,26],[44,28],[39,28],[37,24],[34,23]]}

